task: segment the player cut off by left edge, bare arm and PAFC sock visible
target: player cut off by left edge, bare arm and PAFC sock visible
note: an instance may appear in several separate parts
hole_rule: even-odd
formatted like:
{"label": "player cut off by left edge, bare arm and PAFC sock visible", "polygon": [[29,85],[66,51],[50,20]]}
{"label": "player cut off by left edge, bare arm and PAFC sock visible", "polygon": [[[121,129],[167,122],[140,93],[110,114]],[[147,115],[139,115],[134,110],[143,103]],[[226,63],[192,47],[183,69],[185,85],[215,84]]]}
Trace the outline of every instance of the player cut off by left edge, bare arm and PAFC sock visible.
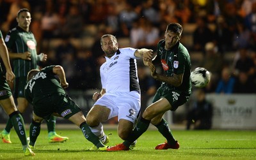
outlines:
{"label": "player cut off by left edge, bare arm and PAFC sock visible", "polygon": [[4,73],[0,64],[0,105],[4,108],[4,111],[10,117],[13,127],[17,135],[19,136],[20,142],[22,143],[22,149],[24,151],[25,156],[34,156],[35,154],[34,152],[32,152],[27,142],[24,120],[15,106],[11,89],[7,83],[7,81],[12,83],[15,78],[15,75],[12,72],[8,50],[4,43],[3,35],[1,31],[0,31],[0,55],[1,55],[1,58],[3,59],[4,66],[6,68],[6,74],[4,76]]}

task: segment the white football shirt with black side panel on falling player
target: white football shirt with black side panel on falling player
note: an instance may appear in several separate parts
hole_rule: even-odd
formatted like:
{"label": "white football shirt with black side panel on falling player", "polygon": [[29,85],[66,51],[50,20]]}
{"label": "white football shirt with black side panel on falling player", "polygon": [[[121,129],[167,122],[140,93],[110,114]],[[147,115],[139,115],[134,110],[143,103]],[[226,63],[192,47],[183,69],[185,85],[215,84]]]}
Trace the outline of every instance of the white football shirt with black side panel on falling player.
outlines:
{"label": "white football shirt with black side panel on falling player", "polygon": [[140,93],[137,73],[137,62],[134,48],[119,48],[110,59],[100,66],[102,88],[106,92],[131,92]]}

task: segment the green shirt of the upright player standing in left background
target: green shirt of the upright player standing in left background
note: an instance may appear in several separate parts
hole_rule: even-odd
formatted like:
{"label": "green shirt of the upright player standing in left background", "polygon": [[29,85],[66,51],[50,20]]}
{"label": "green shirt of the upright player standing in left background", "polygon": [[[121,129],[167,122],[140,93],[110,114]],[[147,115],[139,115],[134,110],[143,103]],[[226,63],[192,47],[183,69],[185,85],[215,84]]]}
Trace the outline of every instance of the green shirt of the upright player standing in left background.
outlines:
{"label": "green shirt of the upright player standing in left background", "polygon": [[38,56],[36,54],[36,40],[33,33],[24,31],[19,26],[13,28],[6,35],[5,43],[12,53],[31,53],[31,60],[13,59],[13,73],[16,78],[27,76],[31,69],[38,69]]}

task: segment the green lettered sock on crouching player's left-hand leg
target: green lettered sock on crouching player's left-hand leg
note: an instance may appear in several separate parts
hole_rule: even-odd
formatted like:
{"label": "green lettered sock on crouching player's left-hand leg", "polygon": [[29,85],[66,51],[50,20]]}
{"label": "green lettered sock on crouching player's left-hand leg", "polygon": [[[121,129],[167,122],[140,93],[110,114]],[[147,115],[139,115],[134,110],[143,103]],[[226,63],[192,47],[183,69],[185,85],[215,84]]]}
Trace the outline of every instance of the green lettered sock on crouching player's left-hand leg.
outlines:
{"label": "green lettered sock on crouching player's left-hand leg", "polygon": [[40,122],[38,123],[32,120],[29,127],[29,138],[30,138],[29,145],[35,146],[36,139],[40,134],[40,130],[41,130],[41,123]]}

